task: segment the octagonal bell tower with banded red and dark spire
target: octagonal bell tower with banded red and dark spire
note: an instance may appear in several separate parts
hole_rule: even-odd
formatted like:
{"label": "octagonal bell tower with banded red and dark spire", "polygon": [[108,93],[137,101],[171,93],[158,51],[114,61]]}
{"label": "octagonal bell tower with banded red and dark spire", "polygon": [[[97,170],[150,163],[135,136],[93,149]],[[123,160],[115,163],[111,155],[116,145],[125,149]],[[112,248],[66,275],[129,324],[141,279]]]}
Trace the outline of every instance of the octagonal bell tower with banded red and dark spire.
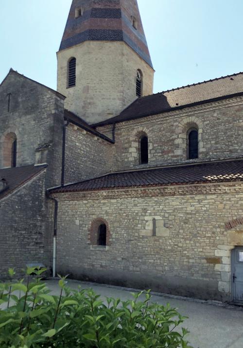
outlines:
{"label": "octagonal bell tower with banded red and dark spire", "polygon": [[137,0],[72,0],[57,52],[65,107],[96,123],[153,93],[151,62]]}

